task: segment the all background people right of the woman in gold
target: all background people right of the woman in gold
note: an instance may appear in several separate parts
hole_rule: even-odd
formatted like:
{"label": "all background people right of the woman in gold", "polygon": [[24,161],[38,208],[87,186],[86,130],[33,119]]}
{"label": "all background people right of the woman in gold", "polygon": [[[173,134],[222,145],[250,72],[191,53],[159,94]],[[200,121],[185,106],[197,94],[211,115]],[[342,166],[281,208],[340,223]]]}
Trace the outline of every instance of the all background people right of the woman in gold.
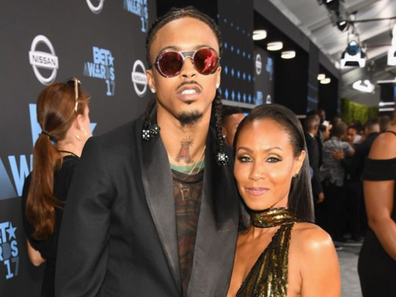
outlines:
{"label": "all background people right of the woman in gold", "polygon": [[346,124],[340,117],[328,122],[324,114],[312,111],[304,119],[316,221],[336,249],[363,242],[358,272],[364,297],[393,296],[395,125],[389,116]]}

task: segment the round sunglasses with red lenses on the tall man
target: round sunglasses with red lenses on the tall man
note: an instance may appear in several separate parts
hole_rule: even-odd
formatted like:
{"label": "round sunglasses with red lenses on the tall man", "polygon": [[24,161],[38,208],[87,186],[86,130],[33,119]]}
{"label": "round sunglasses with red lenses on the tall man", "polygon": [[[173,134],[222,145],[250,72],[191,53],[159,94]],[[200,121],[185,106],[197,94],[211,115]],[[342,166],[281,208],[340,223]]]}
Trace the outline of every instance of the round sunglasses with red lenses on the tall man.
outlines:
{"label": "round sunglasses with red lenses on the tall man", "polygon": [[154,66],[162,76],[175,77],[179,75],[187,58],[192,60],[194,68],[203,75],[213,74],[220,64],[219,54],[211,47],[204,47],[193,51],[165,50],[159,53],[149,69]]}

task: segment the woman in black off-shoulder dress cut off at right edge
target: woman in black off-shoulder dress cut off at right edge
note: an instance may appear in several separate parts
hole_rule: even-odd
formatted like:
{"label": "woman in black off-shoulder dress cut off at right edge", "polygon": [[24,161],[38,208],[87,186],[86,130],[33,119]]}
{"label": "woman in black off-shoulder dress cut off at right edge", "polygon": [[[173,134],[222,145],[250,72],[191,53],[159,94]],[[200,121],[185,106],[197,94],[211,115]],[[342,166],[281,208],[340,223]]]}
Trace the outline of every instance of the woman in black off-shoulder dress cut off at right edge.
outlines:
{"label": "woman in black off-shoulder dress cut off at right edge", "polygon": [[369,230],[359,255],[363,297],[396,296],[396,112],[365,162],[364,200]]}

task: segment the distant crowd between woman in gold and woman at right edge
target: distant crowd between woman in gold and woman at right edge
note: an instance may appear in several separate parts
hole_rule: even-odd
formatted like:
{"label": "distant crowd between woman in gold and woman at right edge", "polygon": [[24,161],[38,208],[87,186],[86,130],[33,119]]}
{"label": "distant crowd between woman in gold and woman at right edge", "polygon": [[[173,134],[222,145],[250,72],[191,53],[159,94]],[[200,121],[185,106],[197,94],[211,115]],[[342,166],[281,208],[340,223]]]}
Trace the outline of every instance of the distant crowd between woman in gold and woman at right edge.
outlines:
{"label": "distant crowd between woman in gold and woman at right edge", "polygon": [[[303,123],[316,219],[336,243],[347,239],[360,242],[368,227],[363,170],[370,147],[380,133],[379,120],[347,124],[339,117],[326,121],[323,114],[323,110],[312,111]],[[329,135],[320,129],[323,123]]]}

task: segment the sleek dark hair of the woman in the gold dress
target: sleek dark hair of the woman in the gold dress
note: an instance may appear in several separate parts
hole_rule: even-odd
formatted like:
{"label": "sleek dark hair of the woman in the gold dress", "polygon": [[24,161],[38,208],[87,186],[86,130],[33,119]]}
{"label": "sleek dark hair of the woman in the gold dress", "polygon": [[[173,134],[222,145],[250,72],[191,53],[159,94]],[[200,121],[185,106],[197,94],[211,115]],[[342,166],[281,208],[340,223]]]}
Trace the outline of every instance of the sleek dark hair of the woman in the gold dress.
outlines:
{"label": "sleek dark hair of the woman in the gold dress", "polygon": [[[236,151],[235,145],[238,143],[239,134],[246,125],[264,119],[276,122],[289,135],[295,157],[299,156],[303,150],[308,152],[304,131],[297,116],[290,109],[278,104],[258,106],[242,120],[235,134],[234,152]],[[313,222],[315,219],[308,154],[297,177],[292,179],[288,208],[301,220]],[[246,225],[246,220],[244,222]]]}

